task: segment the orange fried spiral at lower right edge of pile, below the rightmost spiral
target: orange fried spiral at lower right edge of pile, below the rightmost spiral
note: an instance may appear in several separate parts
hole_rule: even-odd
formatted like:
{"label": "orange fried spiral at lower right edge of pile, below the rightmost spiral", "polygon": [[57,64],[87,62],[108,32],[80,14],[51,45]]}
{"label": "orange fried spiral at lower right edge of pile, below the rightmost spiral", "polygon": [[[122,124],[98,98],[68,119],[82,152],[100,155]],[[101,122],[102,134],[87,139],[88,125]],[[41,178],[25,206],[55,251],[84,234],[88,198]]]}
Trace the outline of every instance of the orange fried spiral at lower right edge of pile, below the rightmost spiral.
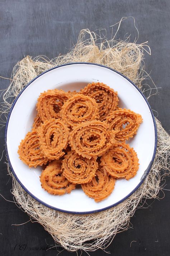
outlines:
{"label": "orange fried spiral at lower right edge of pile, below the rightmost spiral", "polygon": [[137,153],[125,142],[117,142],[100,160],[103,169],[114,178],[129,180],[139,169]]}

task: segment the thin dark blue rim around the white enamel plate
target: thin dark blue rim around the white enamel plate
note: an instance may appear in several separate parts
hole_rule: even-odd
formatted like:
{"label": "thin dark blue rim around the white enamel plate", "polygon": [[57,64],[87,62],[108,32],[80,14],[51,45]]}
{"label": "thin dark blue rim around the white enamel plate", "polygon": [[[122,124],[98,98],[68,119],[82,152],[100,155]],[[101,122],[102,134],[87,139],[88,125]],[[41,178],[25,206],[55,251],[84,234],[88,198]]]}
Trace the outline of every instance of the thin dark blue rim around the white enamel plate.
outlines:
{"label": "thin dark blue rim around the white enamel plate", "polygon": [[[140,180],[140,183],[137,185],[136,188],[134,188],[131,193],[129,193],[126,197],[124,197],[123,199],[121,199],[120,201],[118,201],[117,203],[114,203],[113,205],[110,205],[110,206],[107,206],[107,207],[104,207],[104,208],[101,208],[101,209],[98,209],[98,210],[93,210],[93,211],[87,211],[87,212],[75,212],[75,211],[66,211],[66,210],[62,210],[62,209],[59,209],[59,208],[56,208],[56,207],[53,207],[51,205],[48,205],[47,203],[44,203],[43,201],[41,201],[40,199],[38,199],[37,197],[35,197],[32,193],[29,192],[29,190],[27,188],[25,188],[25,186],[21,183],[21,181],[18,179],[18,177],[16,176],[15,174],[15,171],[11,165],[11,162],[10,162],[10,159],[9,159],[9,155],[8,155],[8,148],[7,148],[7,130],[8,130],[8,123],[9,123],[9,119],[10,119],[10,115],[11,115],[11,112],[13,111],[13,108],[15,106],[15,103],[17,102],[18,98],[20,97],[20,95],[23,93],[23,91],[30,85],[32,84],[32,82],[34,80],[36,80],[38,77],[42,76],[43,74],[53,70],[53,69],[56,69],[56,68],[59,68],[59,67],[63,67],[63,66],[68,66],[68,65],[72,65],[72,64],[88,64],[88,65],[95,65],[95,66],[99,66],[99,67],[103,67],[103,68],[108,68],[110,70],[112,70],[113,72],[115,73],[118,73],[119,75],[123,76],[124,78],[126,78],[134,87],[136,87],[136,89],[141,93],[141,95],[143,96],[143,98],[145,99],[149,109],[150,109],[150,112],[151,112],[151,115],[152,115],[152,120],[154,122],[154,130],[155,130],[155,146],[154,146],[154,153],[153,153],[153,156],[152,156],[152,159],[147,167],[147,169],[145,170],[144,174],[142,175],[142,178]],[[60,65],[60,66],[57,66],[57,67],[53,67],[53,68],[50,68],[48,69],[47,71],[44,71],[43,73],[41,73],[40,75],[36,76],[33,80],[31,80],[23,89],[22,91],[18,94],[18,96],[16,97],[16,99],[14,100],[13,104],[12,104],[12,107],[10,109],[10,112],[8,114],[8,118],[7,118],[7,121],[6,121],[6,126],[5,126],[5,150],[6,150],[6,156],[7,156],[7,159],[8,159],[8,163],[9,163],[9,166],[10,166],[10,169],[11,171],[13,172],[16,180],[18,181],[18,183],[23,187],[23,189],[30,195],[32,196],[34,199],[36,199],[38,202],[42,203],[43,205],[49,207],[49,208],[52,208],[54,210],[57,210],[57,211],[60,211],[60,212],[66,212],[66,213],[70,213],[70,214],[92,214],[92,213],[95,213],[95,212],[100,212],[100,211],[104,211],[104,210],[107,210],[109,208],[112,208],[116,205],[118,205],[119,203],[123,202],[124,200],[126,200],[129,196],[131,196],[139,187],[140,185],[143,183],[143,181],[145,180],[146,176],[148,175],[148,173],[150,172],[151,170],[151,167],[152,167],[152,164],[154,162],[154,158],[155,158],[155,154],[156,154],[156,148],[157,148],[157,128],[156,128],[156,122],[155,122],[155,117],[154,117],[154,114],[152,112],[152,109],[147,101],[147,99],[145,98],[145,96],[143,95],[143,93],[140,91],[140,89],[126,76],[124,76],[123,74],[121,74],[120,72],[116,71],[115,69],[113,68],[109,68],[109,67],[106,67],[104,65],[100,65],[100,64],[96,64],[96,63],[90,63],[90,62],[72,62],[72,63],[67,63],[67,64],[63,64],[63,65]]]}

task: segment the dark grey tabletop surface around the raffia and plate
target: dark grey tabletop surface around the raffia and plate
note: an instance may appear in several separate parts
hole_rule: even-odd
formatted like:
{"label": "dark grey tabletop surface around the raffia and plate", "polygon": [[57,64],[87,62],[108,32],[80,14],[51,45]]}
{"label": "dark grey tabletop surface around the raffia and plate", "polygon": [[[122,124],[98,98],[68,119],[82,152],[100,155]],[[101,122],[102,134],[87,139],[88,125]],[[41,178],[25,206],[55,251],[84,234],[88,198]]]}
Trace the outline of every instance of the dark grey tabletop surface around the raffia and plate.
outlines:
{"label": "dark grey tabletop surface around the raffia and plate", "polygon": [[[149,41],[152,55],[145,55],[146,71],[159,89],[159,95],[150,98],[149,103],[158,112],[159,120],[166,131],[170,129],[170,1],[137,0],[0,0],[0,76],[10,77],[13,66],[26,55],[49,58],[67,53],[76,42],[83,28],[107,29],[122,17],[133,16],[140,32],[139,43]],[[128,32],[134,39],[137,35],[132,18],[124,21],[118,38]],[[9,81],[0,79],[0,89],[8,87]],[[155,112],[156,113],[156,112]],[[4,149],[4,129],[0,133],[0,152]],[[3,163],[0,172],[0,193],[12,200],[11,179],[7,176]],[[165,189],[170,189],[170,179],[166,179]],[[167,256],[170,253],[169,199],[170,193],[164,190],[165,197],[147,200],[151,205],[139,209],[131,218],[132,229],[119,233],[107,248],[111,255],[150,255]],[[164,194],[160,193],[160,197]],[[0,255],[57,255],[56,251],[28,251],[28,247],[46,247],[53,244],[51,236],[38,223],[27,222],[29,217],[14,203],[0,197]],[[147,207],[147,205],[146,205]],[[136,241],[136,242],[132,242]],[[132,242],[132,244],[131,244]],[[27,244],[24,251],[19,245]],[[130,246],[131,245],[131,246]],[[16,246],[16,247],[15,247]],[[14,250],[15,248],[15,250]],[[90,252],[90,255],[106,255],[103,251]],[[71,255],[63,251],[60,255]],[[76,255],[76,253],[72,253]],[[86,255],[85,252],[82,255]]]}

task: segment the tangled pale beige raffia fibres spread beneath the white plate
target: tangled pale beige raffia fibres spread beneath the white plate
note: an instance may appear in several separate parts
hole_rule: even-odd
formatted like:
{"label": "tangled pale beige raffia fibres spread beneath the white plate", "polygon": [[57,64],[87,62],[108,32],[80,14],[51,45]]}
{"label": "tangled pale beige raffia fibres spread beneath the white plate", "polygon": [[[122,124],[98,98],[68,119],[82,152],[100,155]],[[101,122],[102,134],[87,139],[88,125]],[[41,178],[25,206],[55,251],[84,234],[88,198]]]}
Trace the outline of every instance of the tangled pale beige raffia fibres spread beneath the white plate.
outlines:
{"label": "tangled pale beige raffia fibres spread beneath the white plate", "polygon": [[[5,91],[4,102],[1,108],[1,118],[8,116],[11,105],[24,88],[34,77],[49,68],[70,62],[93,62],[116,69],[132,80],[143,92],[142,86],[147,73],[143,62],[144,52],[150,54],[147,42],[137,44],[136,41],[116,41],[114,38],[107,41],[96,33],[82,30],[77,44],[66,55],[49,60],[47,57],[38,56],[34,59],[27,56],[16,64],[11,76],[11,84]],[[152,88],[147,87],[147,98],[151,95]],[[156,90],[157,92],[157,90]],[[156,118],[155,118],[156,119]],[[4,120],[4,118],[3,118]],[[30,216],[32,221],[38,221],[53,237],[56,244],[61,244],[69,251],[78,249],[94,251],[106,248],[119,230],[129,226],[130,217],[134,214],[142,200],[156,198],[159,195],[161,172],[170,170],[170,136],[156,119],[158,142],[157,151],[151,171],[141,187],[126,201],[110,208],[109,210],[89,215],[66,214],[52,210],[33,199],[13,178],[11,193],[14,201]],[[87,243],[87,241],[90,241]]]}

